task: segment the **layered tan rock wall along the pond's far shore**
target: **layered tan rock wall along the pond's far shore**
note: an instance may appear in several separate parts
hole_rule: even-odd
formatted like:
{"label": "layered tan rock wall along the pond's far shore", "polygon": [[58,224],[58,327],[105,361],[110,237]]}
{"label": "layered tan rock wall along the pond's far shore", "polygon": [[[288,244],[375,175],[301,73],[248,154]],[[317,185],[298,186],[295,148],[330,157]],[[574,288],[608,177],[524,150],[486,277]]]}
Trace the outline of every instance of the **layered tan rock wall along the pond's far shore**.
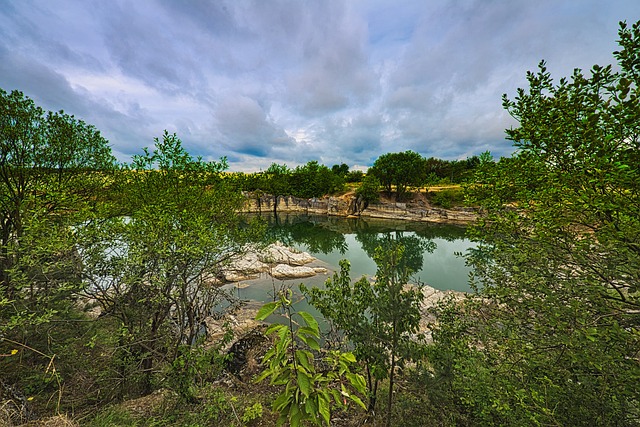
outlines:
{"label": "layered tan rock wall along the pond's far shore", "polygon": [[401,219],[434,223],[468,224],[476,220],[477,210],[469,207],[443,209],[433,206],[421,194],[406,203],[398,203],[388,198],[365,204],[353,193],[339,197],[299,199],[293,196],[256,196],[247,194],[245,212],[303,212],[307,214],[360,216],[369,218]]}

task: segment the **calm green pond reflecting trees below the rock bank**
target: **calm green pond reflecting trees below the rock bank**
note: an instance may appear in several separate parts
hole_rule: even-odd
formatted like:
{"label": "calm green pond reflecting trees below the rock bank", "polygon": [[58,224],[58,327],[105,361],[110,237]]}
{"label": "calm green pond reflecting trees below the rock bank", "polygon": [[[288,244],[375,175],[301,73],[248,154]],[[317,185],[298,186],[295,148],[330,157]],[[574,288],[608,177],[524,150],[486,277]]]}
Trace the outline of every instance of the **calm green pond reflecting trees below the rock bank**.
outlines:
{"label": "calm green pond reflecting trees below the rock bank", "polygon": [[[375,276],[373,254],[378,246],[400,241],[405,247],[407,264],[415,271],[413,283],[440,290],[469,291],[469,268],[461,253],[475,244],[465,237],[465,228],[426,222],[343,218],[325,215],[279,214],[263,216],[267,239],[308,252],[318,260],[310,264],[325,267],[327,274],[306,279],[275,280],[268,275],[233,285],[240,298],[268,302],[276,289],[298,284],[320,286],[340,269],[342,259],[351,264],[351,278]],[[306,305],[303,303],[303,305]],[[298,307],[299,309],[306,309]]]}

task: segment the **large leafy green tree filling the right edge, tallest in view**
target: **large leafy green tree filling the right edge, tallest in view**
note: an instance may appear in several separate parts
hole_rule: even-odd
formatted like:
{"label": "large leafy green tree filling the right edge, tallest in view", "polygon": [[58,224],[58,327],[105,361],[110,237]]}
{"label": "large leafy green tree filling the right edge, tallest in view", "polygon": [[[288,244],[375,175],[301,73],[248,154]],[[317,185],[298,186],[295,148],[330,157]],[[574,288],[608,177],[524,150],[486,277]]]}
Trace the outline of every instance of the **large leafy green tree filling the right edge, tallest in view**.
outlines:
{"label": "large leafy green tree filling the right edge, tallest in view", "polygon": [[440,354],[471,345],[448,366],[478,422],[640,423],[640,23],[619,36],[616,71],[556,84],[541,62],[504,97],[518,152],[469,188],[487,212],[469,258],[479,296],[462,331],[439,334],[459,337]]}

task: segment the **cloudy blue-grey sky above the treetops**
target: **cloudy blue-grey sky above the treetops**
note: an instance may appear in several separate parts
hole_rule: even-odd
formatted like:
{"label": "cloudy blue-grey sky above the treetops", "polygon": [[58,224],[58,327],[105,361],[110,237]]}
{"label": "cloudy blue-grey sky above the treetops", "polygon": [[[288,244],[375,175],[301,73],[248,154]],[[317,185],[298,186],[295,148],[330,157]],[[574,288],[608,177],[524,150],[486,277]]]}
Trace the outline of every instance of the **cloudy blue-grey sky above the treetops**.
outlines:
{"label": "cloudy blue-grey sky above the treetops", "polygon": [[497,158],[502,95],[543,59],[556,81],[615,63],[623,20],[639,0],[0,0],[0,88],[121,162],[165,129],[232,171]]}

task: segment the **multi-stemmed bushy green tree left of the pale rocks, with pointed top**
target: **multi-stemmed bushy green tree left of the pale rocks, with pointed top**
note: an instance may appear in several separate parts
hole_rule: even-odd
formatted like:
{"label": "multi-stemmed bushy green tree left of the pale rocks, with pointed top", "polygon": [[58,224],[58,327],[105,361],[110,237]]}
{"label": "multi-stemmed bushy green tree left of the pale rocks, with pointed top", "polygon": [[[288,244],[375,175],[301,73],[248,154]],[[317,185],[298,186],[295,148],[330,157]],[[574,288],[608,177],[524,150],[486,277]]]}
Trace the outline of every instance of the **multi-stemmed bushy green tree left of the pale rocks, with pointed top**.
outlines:
{"label": "multi-stemmed bushy green tree left of the pale rocks, with pointed top", "polygon": [[129,392],[148,392],[159,367],[204,338],[206,318],[237,306],[216,278],[252,229],[239,227],[243,199],[221,177],[225,168],[224,158],[193,159],[165,131],[153,151],[145,148],[118,174],[126,216],[84,229],[94,236],[82,250],[90,293],[104,317],[121,325]]}

